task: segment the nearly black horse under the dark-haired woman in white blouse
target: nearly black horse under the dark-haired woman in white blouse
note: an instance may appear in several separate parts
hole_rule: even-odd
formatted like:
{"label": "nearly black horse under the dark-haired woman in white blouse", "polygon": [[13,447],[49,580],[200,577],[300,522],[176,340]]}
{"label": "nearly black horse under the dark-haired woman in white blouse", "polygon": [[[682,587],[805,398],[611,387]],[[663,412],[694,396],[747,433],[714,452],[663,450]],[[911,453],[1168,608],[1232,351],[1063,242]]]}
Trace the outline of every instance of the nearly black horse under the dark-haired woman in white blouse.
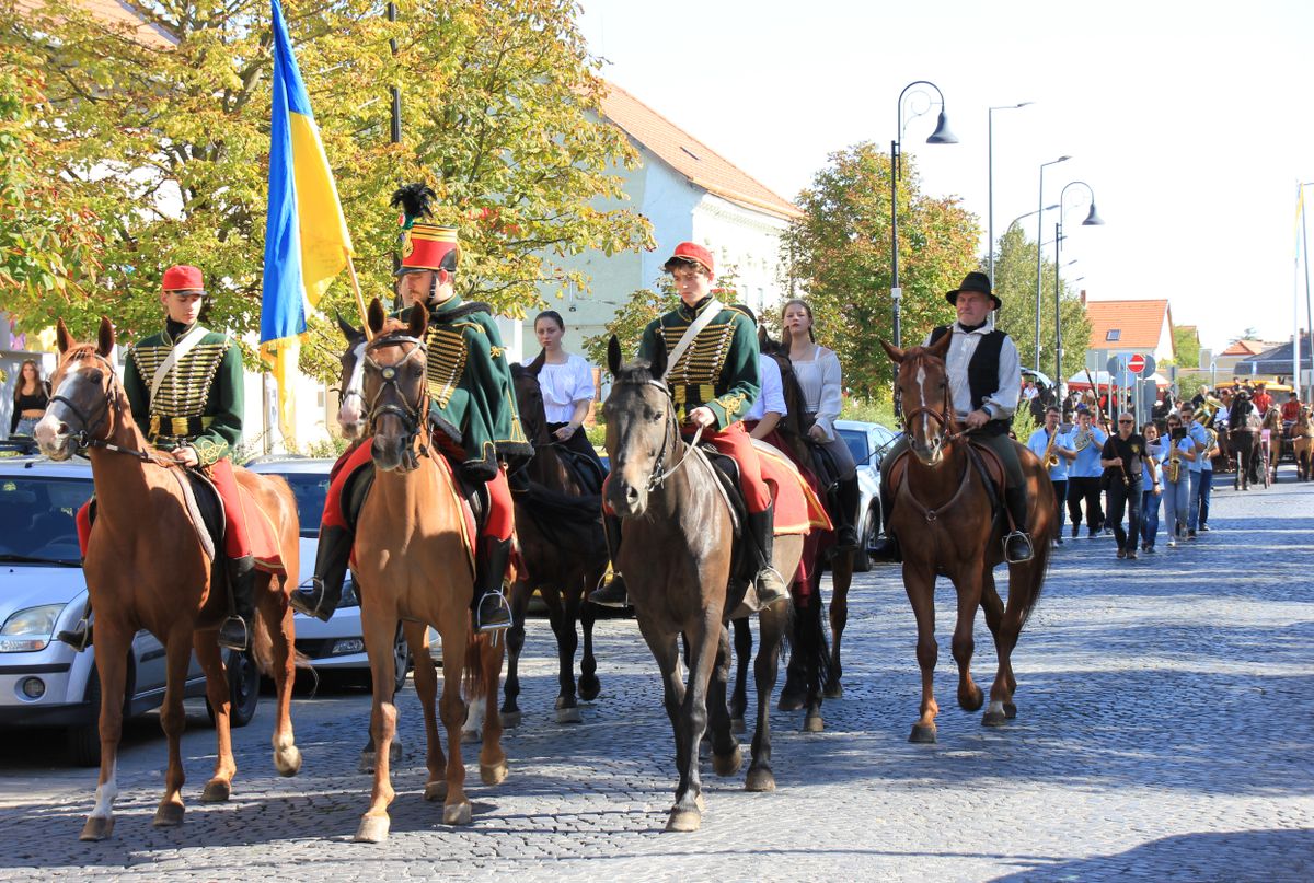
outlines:
{"label": "nearly black horse under the dark-haired woman in white blouse", "polygon": [[[502,724],[520,723],[516,698],[520,694],[519,661],[524,646],[524,615],[530,597],[537,589],[548,606],[548,619],[557,637],[557,675],[561,691],[556,700],[557,723],[579,723],[576,699],[574,654],[578,646],[576,623],[583,625],[583,658],[579,661],[579,698],[591,702],[602,685],[593,654],[593,604],[583,603],[589,590],[607,570],[607,537],[602,530],[602,497],[587,494],[566,465],[561,447],[548,432],[536,368],[512,365],[515,401],[520,426],[533,444],[533,459],[523,474],[515,476],[516,537],[524,566],[511,587],[511,616],[507,632],[507,664]],[[565,602],[562,604],[562,600]]]}

